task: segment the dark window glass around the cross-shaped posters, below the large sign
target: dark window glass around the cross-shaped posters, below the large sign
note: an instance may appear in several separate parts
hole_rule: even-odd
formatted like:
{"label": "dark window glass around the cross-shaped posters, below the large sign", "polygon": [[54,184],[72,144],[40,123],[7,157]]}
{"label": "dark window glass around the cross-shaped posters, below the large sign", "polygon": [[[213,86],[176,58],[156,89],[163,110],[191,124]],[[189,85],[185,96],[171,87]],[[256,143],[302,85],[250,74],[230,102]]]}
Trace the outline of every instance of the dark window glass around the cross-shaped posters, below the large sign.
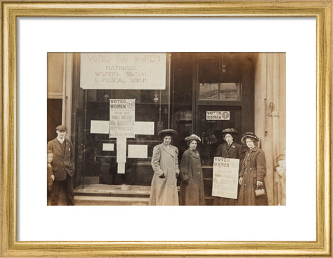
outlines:
{"label": "dark window glass around the cross-shaped posters, below the large sign", "polygon": [[[85,169],[84,177],[99,178],[102,184],[150,184],[153,147],[159,144],[159,130],[168,128],[169,87],[165,90],[103,90],[87,89],[85,114]],[[135,135],[126,139],[125,173],[117,167],[116,138],[108,134],[92,133],[92,121],[110,120],[110,99],[135,99],[135,121],[153,122],[153,135]],[[146,182],[147,181],[147,182]]]}

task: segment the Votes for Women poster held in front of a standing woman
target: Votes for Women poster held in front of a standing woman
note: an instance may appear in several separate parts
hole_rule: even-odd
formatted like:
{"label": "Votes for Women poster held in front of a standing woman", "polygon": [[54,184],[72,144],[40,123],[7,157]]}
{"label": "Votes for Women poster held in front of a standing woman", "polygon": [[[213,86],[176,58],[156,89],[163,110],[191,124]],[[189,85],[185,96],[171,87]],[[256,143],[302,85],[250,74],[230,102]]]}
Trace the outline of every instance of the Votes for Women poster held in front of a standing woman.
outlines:
{"label": "Votes for Women poster held in front of a standing woman", "polygon": [[212,196],[237,199],[239,159],[214,157]]}

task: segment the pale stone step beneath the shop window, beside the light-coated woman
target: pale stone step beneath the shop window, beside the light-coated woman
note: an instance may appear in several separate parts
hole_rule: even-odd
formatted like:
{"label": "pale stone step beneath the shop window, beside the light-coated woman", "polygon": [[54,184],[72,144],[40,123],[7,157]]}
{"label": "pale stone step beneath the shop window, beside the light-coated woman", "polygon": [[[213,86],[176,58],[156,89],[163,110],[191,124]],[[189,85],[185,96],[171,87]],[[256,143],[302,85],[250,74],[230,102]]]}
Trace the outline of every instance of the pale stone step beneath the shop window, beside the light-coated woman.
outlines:
{"label": "pale stone step beneath the shop window, beside the light-coated woman", "polygon": [[149,198],[114,196],[74,196],[74,205],[148,205]]}

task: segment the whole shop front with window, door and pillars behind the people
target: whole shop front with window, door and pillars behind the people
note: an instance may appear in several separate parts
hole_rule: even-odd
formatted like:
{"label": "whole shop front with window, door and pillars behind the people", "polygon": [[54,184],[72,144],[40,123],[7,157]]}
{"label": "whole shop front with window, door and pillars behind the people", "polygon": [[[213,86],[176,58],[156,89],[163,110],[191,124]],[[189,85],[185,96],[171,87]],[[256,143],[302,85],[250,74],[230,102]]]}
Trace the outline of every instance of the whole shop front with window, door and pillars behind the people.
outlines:
{"label": "whole shop front with window, door and pillars behind the people", "polygon": [[[56,107],[62,114],[54,124],[70,128],[77,189],[89,184],[150,186],[153,147],[160,144],[157,132],[172,128],[178,132],[173,145],[179,160],[188,148],[185,137],[194,133],[202,139],[198,150],[211,204],[212,163],[223,142],[221,130],[235,128],[237,143],[245,132],[266,138],[261,148],[268,156],[268,198],[278,204],[274,166],[285,149],[285,94],[273,88],[285,92],[284,53],[49,53],[49,67],[59,58],[62,75],[49,69],[49,92],[52,78],[62,77],[56,95],[61,110],[49,110]],[[276,64],[282,69],[271,69]],[[49,103],[57,102],[54,98],[49,94]],[[278,117],[269,117],[274,111],[270,103],[276,111],[276,101]]]}

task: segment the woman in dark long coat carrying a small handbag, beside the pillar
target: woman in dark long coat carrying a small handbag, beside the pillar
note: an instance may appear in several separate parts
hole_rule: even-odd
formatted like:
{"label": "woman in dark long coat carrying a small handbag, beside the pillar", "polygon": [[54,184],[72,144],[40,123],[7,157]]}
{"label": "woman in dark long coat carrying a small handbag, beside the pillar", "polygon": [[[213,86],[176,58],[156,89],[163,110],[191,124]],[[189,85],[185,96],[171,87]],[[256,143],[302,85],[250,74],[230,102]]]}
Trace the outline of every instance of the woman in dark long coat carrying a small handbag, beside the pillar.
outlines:
{"label": "woman in dark long coat carrying a small handbag, beside the pillar", "polygon": [[[241,190],[238,198],[238,205],[268,205],[267,192],[265,187],[266,159],[265,153],[255,144],[259,138],[253,132],[246,132],[241,138],[241,142],[248,146],[241,167],[241,177],[239,184]],[[265,193],[261,196],[255,196],[255,190],[262,188]]]}

